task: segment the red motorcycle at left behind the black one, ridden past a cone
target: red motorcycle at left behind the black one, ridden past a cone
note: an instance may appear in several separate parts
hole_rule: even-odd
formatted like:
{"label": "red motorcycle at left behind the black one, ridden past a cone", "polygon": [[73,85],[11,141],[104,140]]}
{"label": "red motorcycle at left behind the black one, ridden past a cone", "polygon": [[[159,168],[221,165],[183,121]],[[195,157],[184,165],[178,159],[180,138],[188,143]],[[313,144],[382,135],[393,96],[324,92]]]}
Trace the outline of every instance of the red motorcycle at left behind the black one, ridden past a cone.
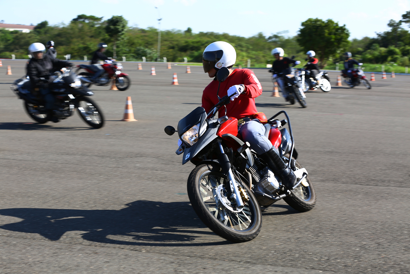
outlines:
{"label": "red motorcycle at left behind the black one, ridden past a cone", "polygon": [[[80,64],[77,66],[78,69],[76,72],[79,76],[82,76],[82,78],[86,78],[83,79],[83,82],[86,82],[85,85],[88,87],[92,84],[100,86],[109,85],[111,83],[111,79],[115,81],[115,85],[118,90],[124,91],[130,87],[130,78],[128,78],[128,74],[121,72],[123,69],[121,63],[113,62],[112,64],[102,64],[101,67],[103,67],[105,71],[96,80],[91,80],[96,73],[96,66],[94,65]],[[80,69],[84,69],[86,72],[78,73]]]}

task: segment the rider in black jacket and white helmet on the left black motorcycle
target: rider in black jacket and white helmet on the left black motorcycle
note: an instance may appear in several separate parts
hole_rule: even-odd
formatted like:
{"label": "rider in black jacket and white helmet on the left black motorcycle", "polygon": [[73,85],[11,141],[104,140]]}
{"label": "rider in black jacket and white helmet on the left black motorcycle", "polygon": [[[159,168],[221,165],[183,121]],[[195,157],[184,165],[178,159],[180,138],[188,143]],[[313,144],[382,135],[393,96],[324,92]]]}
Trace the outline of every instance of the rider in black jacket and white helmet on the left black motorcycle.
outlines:
{"label": "rider in black jacket and white helmet on the left black motorcycle", "polygon": [[[50,76],[54,71],[62,69],[63,67],[71,67],[73,64],[67,61],[56,58],[51,59],[44,56],[44,51],[46,48],[41,43],[33,43],[28,49],[32,55],[32,58],[27,64],[27,76],[30,77],[34,95],[40,95],[43,98],[45,101],[44,107],[48,110],[48,118],[52,119],[54,96],[48,87]],[[53,120],[53,122],[56,121]]]}

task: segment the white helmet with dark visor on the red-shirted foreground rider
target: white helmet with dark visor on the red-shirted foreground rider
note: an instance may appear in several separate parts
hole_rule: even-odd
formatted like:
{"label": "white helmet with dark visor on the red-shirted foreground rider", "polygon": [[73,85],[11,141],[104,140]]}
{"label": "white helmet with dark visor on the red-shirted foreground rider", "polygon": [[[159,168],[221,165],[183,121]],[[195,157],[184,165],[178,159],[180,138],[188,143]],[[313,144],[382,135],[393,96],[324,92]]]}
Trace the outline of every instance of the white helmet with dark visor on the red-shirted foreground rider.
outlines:
{"label": "white helmet with dark visor on the red-shirted foreground rider", "polygon": [[202,54],[202,64],[205,73],[212,68],[216,70],[221,67],[233,66],[236,62],[236,51],[233,46],[227,42],[217,41],[209,44]]}

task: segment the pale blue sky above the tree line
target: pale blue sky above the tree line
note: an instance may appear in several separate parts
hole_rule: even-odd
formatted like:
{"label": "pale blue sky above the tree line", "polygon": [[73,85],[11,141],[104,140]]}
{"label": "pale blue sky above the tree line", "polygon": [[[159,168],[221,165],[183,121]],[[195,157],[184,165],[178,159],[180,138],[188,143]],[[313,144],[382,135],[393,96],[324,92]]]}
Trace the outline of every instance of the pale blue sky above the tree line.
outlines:
{"label": "pale blue sky above the tree line", "polygon": [[287,35],[292,36],[301,22],[318,17],[346,24],[351,38],[362,38],[387,30],[390,19],[400,20],[401,14],[410,10],[410,0],[0,0],[0,20],[9,24],[36,25],[47,20],[55,25],[87,14],[104,19],[122,15],[130,26],[157,28],[158,10],[162,30],[191,27],[193,32],[227,32],[244,37],[288,30]]}

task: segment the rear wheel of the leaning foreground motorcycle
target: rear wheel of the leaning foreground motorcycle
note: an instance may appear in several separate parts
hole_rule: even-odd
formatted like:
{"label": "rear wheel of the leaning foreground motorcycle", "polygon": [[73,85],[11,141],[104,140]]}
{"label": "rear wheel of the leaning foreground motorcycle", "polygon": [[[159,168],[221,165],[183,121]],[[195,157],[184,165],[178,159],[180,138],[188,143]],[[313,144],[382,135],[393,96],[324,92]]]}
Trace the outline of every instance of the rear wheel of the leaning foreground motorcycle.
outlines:
{"label": "rear wheel of the leaning foreground motorcycle", "polygon": [[[302,168],[298,161],[295,161],[295,166],[297,168]],[[283,198],[288,205],[300,212],[309,211],[316,205],[316,192],[314,191],[313,184],[309,179],[309,175],[307,175],[306,180],[309,184],[308,187],[300,184],[296,187],[296,189],[291,191],[289,196]]]}

